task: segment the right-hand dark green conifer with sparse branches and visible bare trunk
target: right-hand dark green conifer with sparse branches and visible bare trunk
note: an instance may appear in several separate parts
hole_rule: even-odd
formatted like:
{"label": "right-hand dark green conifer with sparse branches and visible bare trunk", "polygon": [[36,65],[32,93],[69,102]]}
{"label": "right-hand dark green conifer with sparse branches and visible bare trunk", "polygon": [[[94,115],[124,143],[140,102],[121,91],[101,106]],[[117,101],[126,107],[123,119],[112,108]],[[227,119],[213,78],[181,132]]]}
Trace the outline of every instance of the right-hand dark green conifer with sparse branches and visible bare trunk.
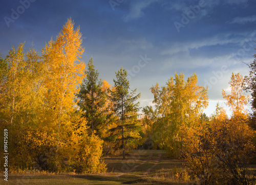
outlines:
{"label": "right-hand dark green conifer with sparse branches and visible bare trunk", "polygon": [[127,80],[127,72],[121,67],[116,72],[116,80],[114,80],[115,90],[111,90],[110,99],[113,103],[113,112],[118,117],[118,125],[111,128],[114,135],[121,135],[123,158],[125,158],[125,140],[134,138],[131,131],[137,128],[137,112],[139,110],[139,102],[135,103],[140,97],[140,93],[136,94],[136,90],[130,90],[130,82]]}

